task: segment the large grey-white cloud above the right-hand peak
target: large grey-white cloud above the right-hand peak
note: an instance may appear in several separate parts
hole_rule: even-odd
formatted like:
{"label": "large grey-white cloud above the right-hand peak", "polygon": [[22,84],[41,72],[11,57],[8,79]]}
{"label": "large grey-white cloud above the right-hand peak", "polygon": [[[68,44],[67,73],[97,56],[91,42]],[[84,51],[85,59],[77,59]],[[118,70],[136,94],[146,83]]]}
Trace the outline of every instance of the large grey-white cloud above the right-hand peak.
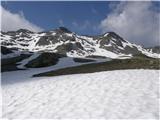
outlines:
{"label": "large grey-white cloud above the right-hand peak", "polygon": [[120,2],[101,21],[103,32],[114,31],[125,39],[144,46],[159,45],[160,13],[152,2]]}

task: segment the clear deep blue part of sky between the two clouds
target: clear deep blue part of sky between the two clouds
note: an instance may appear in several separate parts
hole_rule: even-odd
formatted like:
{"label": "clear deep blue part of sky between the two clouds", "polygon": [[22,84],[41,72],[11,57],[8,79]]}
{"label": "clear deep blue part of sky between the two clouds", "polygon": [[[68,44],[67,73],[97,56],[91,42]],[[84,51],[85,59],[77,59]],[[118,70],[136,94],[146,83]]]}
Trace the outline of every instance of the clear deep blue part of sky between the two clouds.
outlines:
{"label": "clear deep blue part of sky between the two clouds", "polygon": [[[117,3],[117,2],[115,2]],[[110,12],[110,2],[2,2],[13,13],[23,12],[25,18],[45,30],[65,26],[80,34],[99,34],[101,20]]]}

